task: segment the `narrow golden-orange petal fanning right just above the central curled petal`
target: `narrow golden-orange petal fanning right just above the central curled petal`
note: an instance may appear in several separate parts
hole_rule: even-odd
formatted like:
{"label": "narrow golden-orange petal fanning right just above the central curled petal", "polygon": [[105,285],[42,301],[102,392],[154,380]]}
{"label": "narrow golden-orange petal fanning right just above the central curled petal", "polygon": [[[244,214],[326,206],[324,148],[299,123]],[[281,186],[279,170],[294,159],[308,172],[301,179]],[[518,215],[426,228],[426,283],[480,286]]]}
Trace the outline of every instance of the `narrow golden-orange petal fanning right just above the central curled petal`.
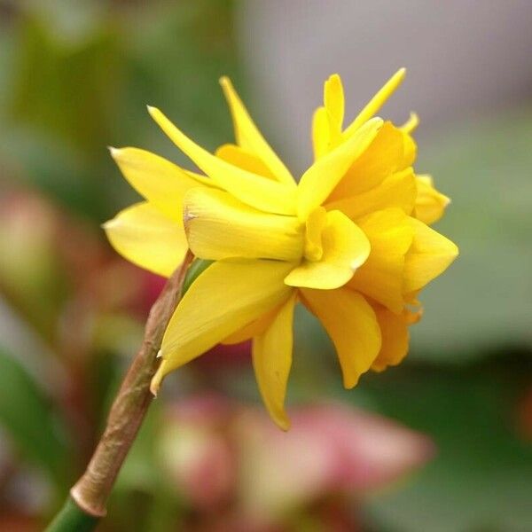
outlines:
{"label": "narrow golden-orange petal fanning right just above the central curled petal", "polygon": [[351,220],[356,220],[372,212],[397,207],[410,215],[416,202],[418,189],[412,168],[388,176],[381,184],[368,192],[363,192],[327,203],[328,209],[338,209]]}

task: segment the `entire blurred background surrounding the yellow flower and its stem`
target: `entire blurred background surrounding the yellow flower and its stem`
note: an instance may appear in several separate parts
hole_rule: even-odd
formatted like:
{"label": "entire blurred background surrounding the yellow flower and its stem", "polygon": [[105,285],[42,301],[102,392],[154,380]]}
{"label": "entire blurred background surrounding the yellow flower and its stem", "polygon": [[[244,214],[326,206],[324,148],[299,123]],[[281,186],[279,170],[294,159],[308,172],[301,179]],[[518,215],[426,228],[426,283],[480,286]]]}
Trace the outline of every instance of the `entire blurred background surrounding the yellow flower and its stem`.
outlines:
{"label": "entire blurred background surrounding the yellow flower and its stem", "polygon": [[215,348],[168,378],[100,529],[532,529],[530,20],[528,0],[0,0],[0,530],[42,529],[82,473],[163,285],[99,227],[136,200],[106,146],[186,163],[146,104],[230,141],[229,74],[301,171],[325,78],[354,116],[399,66],[384,113],[420,114],[461,248],[411,355],[347,392],[301,310],[282,434],[249,347]]}

